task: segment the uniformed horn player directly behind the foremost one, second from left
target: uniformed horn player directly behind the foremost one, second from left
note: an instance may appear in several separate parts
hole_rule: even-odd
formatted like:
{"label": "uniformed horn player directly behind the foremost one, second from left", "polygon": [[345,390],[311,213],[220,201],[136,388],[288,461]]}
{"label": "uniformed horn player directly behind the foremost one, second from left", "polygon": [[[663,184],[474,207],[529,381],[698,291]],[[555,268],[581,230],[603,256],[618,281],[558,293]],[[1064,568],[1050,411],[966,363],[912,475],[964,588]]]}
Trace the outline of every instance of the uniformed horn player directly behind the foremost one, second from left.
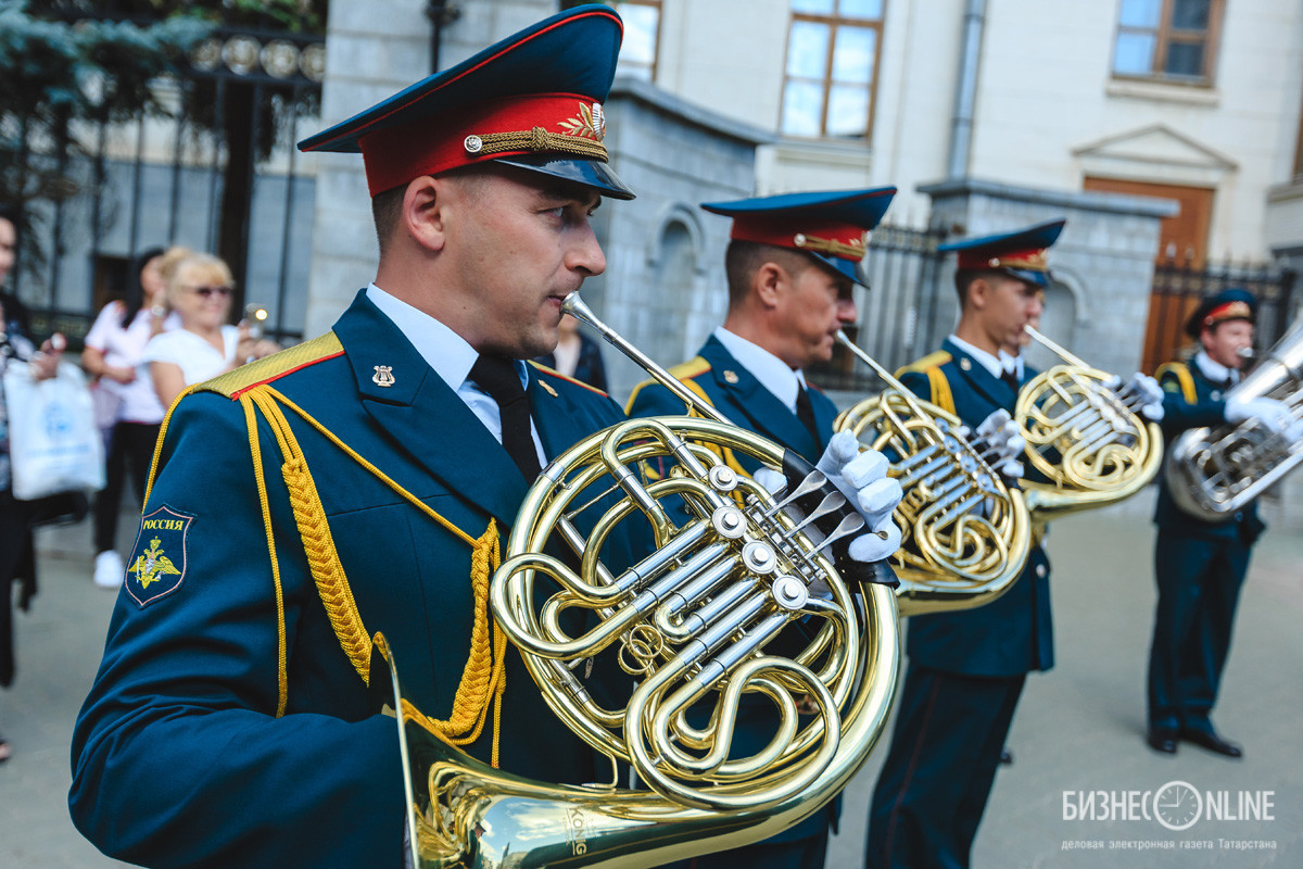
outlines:
{"label": "uniformed horn player directly behind the foremost one, second from left", "polygon": [[[805,382],[805,369],[827,362],[840,330],[857,322],[855,293],[868,289],[860,271],[864,236],[894,194],[895,188],[870,188],[704,203],[732,220],[724,255],[728,313],[697,356],[671,373],[739,425],[797,452],[857,451],[851,433],[834,435],[837,408]],[[628,412],[681,413],[683,400],[649,380],[633,391]],[[985,430],[993,435],[986,444],[992,464],[1016,464],[1011,456],[1022,449],[1022,439],[1009,416]],[[899,529],[890,532],[899,541]],[[741,711],[743,739],[735,745],[761,745],[773,727],[770,707],[756,698]],[[830,804],[773,839],[697,857],[696,869],[822,866],[837,810],[838,804]]]}

